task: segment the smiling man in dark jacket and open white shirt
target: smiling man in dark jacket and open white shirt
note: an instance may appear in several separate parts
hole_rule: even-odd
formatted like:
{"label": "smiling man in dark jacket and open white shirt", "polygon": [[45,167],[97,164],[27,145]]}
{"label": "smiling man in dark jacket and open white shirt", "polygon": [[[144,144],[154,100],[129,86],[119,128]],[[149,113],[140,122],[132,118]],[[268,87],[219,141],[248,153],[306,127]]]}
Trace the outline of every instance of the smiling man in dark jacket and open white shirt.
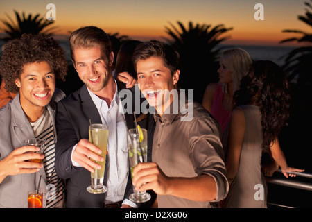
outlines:
{"label": "smiling man in dark jacket and open white shirt", "polygon": [[[67,180],[67,207],[137,207],[126,199],[132,193],[128,164],[128,128],[135,128],[133,114],[123,113],[119,92],[125,86],[114,80],[114,53],[108,35],[95,26],[74,31],[69,38],[71,58],[83,87],[58,103],[57,126],[60,135],[56,146],[55,168]],[[153,116],[152,116],[153,117]],[[107,142],[105,185],[107,193],[89,194],[90,172],[101,167],[99,148],[89,142],[88,128],[92,123],[105,123],[110,131]],[[153,118],[140,122],[152,129]],[[149,124],[150,123],[150,124]],[[151,147],[151,142],[150,142]]]}

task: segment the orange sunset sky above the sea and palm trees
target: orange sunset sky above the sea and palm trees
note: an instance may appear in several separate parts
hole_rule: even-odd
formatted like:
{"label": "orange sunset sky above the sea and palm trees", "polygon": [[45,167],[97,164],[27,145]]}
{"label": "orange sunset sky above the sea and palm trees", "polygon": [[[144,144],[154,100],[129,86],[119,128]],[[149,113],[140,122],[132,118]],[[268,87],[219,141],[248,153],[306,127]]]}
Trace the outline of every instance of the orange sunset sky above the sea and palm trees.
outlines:
{"label": "orange sunset sky above the sea and palm trees", "polygon": [[[304,15],[304,0],[1,0],[0,18],[7,19],[7,14],[15,19],[13,10],[26,15],[46,15],[48,3],[55,4],[55,26],[60,28],[59,33],[65,34],[81,26],[94,25],[107,33],[118,32],[131,38],[160,38],[168,37],[164,27],[169,22],[177,26],[180,21],[188,26],[191,21],[234,28],[227,33],[231,36],[229,42],[277,44],[296,36],[282,33],[284,29],[310,31],[309,26],[297,19],[298,15]],[[263,21],[254,19],[256,3],[263,4]],[[0,28],[3,28],[1,22]]]}

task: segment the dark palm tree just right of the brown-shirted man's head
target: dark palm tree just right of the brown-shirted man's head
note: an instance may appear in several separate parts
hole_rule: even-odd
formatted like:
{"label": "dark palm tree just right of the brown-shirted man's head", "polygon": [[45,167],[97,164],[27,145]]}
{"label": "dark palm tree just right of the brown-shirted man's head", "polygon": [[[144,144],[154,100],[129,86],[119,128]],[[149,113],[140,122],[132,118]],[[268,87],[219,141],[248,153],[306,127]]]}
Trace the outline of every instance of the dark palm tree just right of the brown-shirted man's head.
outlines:
{"label": "dark palm tree just right of the brown-shirted man's head", "polygon": [[177,22],[179,30],[169,24],[171,28],[165,28],[172,39],[164,39],[180,53],[180,87],[194,89],[194,100],[201,103],[205,87],[218,80],[216,70],[222,48],[217,46],[229,38],[220,35],[232,28],[225,28],[222,24],[214,27],[207,24],[194,25],[193,22],[189,22],[189,27],[185,28],[182,22]]}

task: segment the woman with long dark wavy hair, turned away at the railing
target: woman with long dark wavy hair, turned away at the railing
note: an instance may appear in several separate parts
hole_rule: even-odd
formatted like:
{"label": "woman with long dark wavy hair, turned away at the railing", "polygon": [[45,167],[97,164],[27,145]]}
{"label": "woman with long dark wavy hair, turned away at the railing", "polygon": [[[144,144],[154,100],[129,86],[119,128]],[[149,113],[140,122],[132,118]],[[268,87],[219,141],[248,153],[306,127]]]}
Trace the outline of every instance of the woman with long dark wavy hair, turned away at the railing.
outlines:
{"label": "woman with long dark wavy hair, turned away at the railing", "polygon": [[288,167],[278,141],[289,117],[290,99],[284,71],[274,62],[254,62],[242,78],[223,140],[230,184],[225,207],[267,207],[263,151],[272,153],[284,176],[303,171]]}

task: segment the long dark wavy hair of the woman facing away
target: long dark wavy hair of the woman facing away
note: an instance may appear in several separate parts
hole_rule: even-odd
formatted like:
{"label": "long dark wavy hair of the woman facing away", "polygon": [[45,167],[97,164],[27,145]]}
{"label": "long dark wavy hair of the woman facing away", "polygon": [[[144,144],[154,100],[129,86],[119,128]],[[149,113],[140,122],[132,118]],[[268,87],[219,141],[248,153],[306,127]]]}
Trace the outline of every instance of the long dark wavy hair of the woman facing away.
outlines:
{"label": "long dark wavy hair of the woman facing away", "polygon": [[272,61],[252,63],[250,71],[241,79],[234,94],[236,106],[255,104],[261,109],[262,148],[267,151],[287,124],[291,95],[283,69]]}

